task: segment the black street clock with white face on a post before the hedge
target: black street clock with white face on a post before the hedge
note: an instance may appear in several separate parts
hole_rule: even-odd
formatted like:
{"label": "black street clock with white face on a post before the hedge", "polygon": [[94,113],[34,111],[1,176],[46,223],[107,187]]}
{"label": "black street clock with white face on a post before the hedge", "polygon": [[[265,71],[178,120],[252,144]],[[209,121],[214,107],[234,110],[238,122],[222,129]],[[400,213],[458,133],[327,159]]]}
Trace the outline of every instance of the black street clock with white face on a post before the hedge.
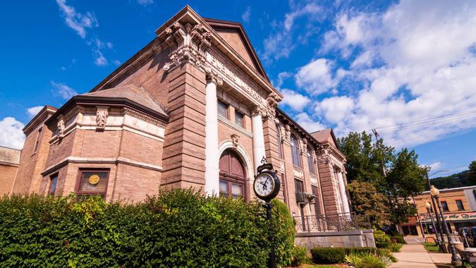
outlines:
{"label": "black street clock with white face on a post before the hedge", "polygon": [[[276,176],[276,171],[273,171],[273,165],[271,163],[268,164],[265,157],[263,157],[261,163],[262,165],[257,167],[253,190],[255,190],[255,195],[265,202],[267,209],[266,218],[271,223],[271,209],[273,208],[271,200],[278,195],[281,183],[278,176]],[[269,236],[269,242],[271,243],[269,268],[276,268],[276,253],[274,252],[274,236],[272,234]]]}

